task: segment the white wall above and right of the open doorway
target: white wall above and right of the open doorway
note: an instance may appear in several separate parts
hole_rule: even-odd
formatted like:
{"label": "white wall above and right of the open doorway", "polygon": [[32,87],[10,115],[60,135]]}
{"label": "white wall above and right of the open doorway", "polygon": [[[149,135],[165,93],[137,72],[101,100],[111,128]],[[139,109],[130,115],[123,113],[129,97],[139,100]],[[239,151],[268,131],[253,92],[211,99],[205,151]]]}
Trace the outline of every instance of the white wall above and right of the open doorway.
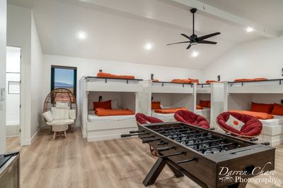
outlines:
{"label": "white wall above and right of the open doorway", "polygon": [[21,144],[30,142],[31,10],[8,4],[7,46],[21,47]]}

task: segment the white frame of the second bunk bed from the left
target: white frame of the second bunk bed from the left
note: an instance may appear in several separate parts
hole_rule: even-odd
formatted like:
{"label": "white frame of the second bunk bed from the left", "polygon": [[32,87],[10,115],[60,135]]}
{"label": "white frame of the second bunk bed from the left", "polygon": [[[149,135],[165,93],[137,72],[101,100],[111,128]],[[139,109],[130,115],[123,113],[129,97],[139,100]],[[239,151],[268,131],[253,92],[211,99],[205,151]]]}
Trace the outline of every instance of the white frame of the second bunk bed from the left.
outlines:
{"label": "white frame of the second bunk bed from the left", "polygon": [[[173,82],[151,82],[145,81],[144,87],[146,87],[146,95],[148,106],[146,106],[146,111],[148,115],[151,114],[151,96],[152,94],[188,94],[192,95],[192,106],[195,106],[195,91],[196,91],[196,84],[189,84],[189,83],[173,83]],[[191,109],[190,109],[191,110]],[[175,119],[171,115],[163,115],[164,117],[158,116],[164,122],[172,122]]]}

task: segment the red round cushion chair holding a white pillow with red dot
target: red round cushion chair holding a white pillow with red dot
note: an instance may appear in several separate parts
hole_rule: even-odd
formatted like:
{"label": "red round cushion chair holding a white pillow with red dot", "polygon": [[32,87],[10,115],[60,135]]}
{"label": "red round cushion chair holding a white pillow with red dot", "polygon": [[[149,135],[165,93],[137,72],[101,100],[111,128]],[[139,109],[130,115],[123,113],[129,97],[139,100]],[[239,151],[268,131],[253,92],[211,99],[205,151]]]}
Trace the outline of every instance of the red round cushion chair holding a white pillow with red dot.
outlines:
{"label": "red round cushion chair holding a white pillow with red dot", "polygon": [[[241,122],[245,123],[245,125],[243,125],[240,131],[226,124],[230,115],[240,120]],[[260,122],[260,120],[258,120],[258,118],[241,113],[233,113],[233,112],[220,113],[216,118],[216,123],[225,132],[230,132],[233,135],[246,137],[246,138],[258,136],[262,130],[262,123]]]}

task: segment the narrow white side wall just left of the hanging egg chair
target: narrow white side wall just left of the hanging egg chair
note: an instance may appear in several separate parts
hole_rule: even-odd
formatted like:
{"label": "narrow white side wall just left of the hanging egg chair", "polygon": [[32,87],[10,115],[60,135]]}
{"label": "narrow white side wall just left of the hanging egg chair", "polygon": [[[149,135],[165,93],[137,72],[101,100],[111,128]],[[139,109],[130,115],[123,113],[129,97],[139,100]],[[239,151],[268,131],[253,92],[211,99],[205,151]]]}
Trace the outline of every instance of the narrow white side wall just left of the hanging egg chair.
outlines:
{"label": "narrow white side wall just left of the hanging egg chair", "polygon": [[30,135],[33,137],[40,128],[42,120],[42,49],[33,15],[31,17],[31,124]]}

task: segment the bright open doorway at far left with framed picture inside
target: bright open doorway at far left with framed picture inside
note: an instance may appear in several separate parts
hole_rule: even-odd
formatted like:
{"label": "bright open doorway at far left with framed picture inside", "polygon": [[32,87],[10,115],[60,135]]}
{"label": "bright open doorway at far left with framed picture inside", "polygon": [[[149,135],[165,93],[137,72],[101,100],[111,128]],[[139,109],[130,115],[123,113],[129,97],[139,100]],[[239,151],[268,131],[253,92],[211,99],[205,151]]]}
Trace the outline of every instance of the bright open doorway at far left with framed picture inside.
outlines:
{"label": "bright open doorway at far left with framed picture inside", "polygon": [[21,48],[6,47],[6,141],[20,144]]}

